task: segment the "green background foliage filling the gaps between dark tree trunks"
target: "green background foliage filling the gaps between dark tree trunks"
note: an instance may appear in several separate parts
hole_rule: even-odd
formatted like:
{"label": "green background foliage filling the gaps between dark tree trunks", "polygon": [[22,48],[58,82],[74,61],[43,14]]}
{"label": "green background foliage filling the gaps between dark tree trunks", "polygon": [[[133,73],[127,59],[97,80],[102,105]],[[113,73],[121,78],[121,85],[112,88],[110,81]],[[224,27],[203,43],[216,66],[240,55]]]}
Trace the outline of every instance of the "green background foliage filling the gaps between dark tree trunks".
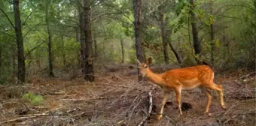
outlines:
{"label": "green background foliage filling the gaps between dark tree trunks", "polygon": [[[200,41],[203,45],[202,58],[210,60],[211,43],[215,45],[215,65],[236,66],[241,62],[252,62],[254,54],[254,3],[250,0],[210,0],[195,1],[193,12],[197,18]],[[21,1],[20,13],[23,23],[24,52],[28,73],[47,68],[47,30],[45,23],[45,5],[47,1]],[[98,46],[99,62],[120,62],[120,39],[128,38],[123,44],[126,61],[136,62],[134,48],[133,1],[98,1],[91,6],[92,34]],[[173,1],[149,0],[142,5],[142,42],[146,55],[154,55],[157,63],[163,63],[163,45],[160,31],[160,13],[168,20],[166,30],[169,42],[184,58],[184,65],[194,64],[190,52],[193,49],[190,28],[191,6],[188,0]],[[210,13],[212,6],[213,13]],[[11,22],[14,21],[13,10],[8,1],[0,1]],[[54,68],[67,64],[76,65],[79,59],[79,20],[78,5],[74,1],[53,0],[49,3],[50,31],[53,34]],[[14,28],[0,11],[0,47],[2,66],[0,83],[6,83],[17,73],[17,45]],[[14,24],[14,23],[13,23]],[[210,37],[209,26],[214,24],[214,40]],[[189,28],[187,28],[189,26]],[[189,30],[189,31],[188,31]],[[190,34],[190,37],[189,37]],[[178,38],[179,36],[179,38]],[[189,42],[192,43],[192,46]],[[41,44],[42,43],[42,44]],[[41,44],[41,45],[40,45]],[[94,44],[94,43],[93,43]],[[38,46],[39,45],[39,46]],[[157,50],[156,50],[157,48]],[[175,57],[169,49],[169,58]],[[231,58],[230,58],[231,57]],[[255,57],[256,58],[256,57]],[[238,60],[239,59],[239,60]],[[101,61],[102,60],[102,61]],[[255,60],[255,59],[254,59]],[[239,61],[239,62],[237,62]],[[245,64],[244,64],[245,65]],[[29,76],[29,75],[28,75]]]}

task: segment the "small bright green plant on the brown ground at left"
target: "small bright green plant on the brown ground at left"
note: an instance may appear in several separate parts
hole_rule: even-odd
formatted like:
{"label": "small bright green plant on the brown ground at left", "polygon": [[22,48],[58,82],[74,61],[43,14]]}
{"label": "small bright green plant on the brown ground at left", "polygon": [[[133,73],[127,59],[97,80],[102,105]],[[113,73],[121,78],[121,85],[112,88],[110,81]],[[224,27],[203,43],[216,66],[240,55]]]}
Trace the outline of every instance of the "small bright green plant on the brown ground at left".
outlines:
{"label": "small bright green plant on the brown ground at left", "polygon": [[29,101],[32,105],[42,104],[44,102],[44,98],[40,95],[35,95],[32,92],[26,93],[23,95],[23,101]]}

